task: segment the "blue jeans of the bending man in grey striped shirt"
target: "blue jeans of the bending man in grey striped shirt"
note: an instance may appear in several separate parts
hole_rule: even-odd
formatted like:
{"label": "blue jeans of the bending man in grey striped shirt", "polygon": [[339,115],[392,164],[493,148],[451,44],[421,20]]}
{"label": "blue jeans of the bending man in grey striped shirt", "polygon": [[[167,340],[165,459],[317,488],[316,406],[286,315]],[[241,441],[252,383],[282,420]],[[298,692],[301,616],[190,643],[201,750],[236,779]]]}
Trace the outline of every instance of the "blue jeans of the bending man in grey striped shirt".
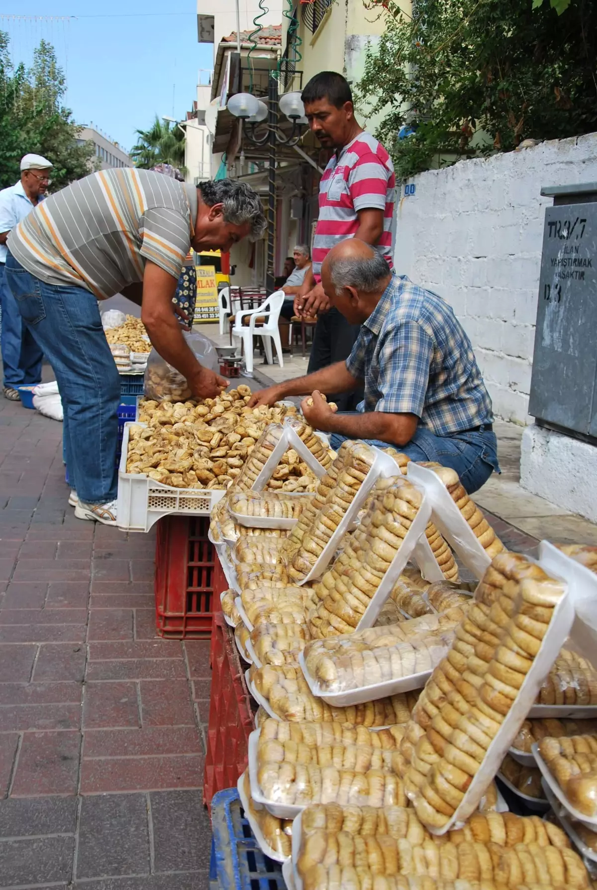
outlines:
{"label": "blue jeans of the bending man in grey striped shirt", "polygon": [[10,253],[6,281],[56,375],[70,485],[85,504],[114,500],[120,376],[101,326],[98,301],[84,287],[45,284]]}

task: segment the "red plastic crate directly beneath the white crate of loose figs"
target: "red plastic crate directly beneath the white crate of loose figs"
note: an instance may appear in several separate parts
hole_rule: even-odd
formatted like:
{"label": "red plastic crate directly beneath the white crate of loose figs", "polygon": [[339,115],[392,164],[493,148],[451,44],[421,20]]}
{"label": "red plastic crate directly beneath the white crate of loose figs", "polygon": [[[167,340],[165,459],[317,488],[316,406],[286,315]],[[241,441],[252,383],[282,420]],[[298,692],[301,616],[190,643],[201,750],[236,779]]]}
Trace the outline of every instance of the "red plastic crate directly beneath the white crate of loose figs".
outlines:
{"label": "red plastic crate directly beneath the white crate of loose figs", "polygon": [[211,635],[227,583],[207,538],[209,516],[164,516],[155,538],[155,630],[181,640]]}

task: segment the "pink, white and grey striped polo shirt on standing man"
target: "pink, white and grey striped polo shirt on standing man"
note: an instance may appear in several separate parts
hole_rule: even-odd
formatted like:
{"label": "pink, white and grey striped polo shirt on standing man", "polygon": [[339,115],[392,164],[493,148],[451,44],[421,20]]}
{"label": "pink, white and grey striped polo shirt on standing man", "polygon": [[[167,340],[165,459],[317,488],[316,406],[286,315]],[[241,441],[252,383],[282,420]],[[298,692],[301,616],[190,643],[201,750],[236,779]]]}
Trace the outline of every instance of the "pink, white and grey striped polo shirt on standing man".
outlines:
{"label": "pink, white and grey striped polo shirt on standing man", "polygon": [[354,237],[359,210],[384,211],[384,231],[376,249],[392,266],[395,198],[392,159],[370,134],[359,134],[330,158],[319,184],[319,219],[313,242],[315,281],[321,280],[322,262],[331,248]]}

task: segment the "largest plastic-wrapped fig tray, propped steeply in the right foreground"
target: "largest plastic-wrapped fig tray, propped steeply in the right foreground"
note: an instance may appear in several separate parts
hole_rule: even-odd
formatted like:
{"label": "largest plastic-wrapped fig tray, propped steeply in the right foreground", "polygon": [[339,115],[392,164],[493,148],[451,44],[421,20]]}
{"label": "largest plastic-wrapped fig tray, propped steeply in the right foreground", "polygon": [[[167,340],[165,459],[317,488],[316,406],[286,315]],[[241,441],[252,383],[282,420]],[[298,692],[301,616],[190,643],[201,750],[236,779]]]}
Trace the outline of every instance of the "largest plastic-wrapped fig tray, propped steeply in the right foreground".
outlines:
{"label": "largest plastic-wrapped fig tray, propped steeply in the right foreground", "polygon": [[479,804],[537,695],[574,610],[566,584],[498,554],[407,727],[405,789],[434,834]]}

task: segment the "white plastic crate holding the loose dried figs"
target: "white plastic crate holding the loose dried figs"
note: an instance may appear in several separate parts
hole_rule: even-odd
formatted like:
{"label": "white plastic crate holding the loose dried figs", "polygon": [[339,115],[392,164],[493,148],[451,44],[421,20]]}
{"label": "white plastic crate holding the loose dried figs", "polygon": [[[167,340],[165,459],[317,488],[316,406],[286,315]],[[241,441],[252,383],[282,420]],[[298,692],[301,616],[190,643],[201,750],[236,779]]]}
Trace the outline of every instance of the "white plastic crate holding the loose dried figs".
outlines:
{"label": "white plastic crate holding the loose dried figs", "polygon": [[131,424],[124,424],[123,452],[118,470],[118,528],[123,531],[149,531],[162,516],[209,516],[226,494],[225,490],[175,489],[149,479],[145,473],[126,472],[130,428]]}

